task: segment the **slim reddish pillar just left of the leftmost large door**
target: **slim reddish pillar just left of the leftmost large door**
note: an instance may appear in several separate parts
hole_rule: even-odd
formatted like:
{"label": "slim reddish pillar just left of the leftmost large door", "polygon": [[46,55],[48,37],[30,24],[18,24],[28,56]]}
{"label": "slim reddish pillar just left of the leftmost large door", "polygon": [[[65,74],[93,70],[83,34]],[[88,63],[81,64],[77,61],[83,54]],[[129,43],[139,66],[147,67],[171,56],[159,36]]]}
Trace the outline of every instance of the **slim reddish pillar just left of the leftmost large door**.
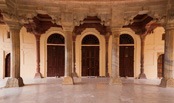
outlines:
{"label": "slim reddish pillar just left of the leftmost large door", "polygon": [[36,38],[36,73],[34,78],[42,78],[40,73],[40,36],[34,35]]}

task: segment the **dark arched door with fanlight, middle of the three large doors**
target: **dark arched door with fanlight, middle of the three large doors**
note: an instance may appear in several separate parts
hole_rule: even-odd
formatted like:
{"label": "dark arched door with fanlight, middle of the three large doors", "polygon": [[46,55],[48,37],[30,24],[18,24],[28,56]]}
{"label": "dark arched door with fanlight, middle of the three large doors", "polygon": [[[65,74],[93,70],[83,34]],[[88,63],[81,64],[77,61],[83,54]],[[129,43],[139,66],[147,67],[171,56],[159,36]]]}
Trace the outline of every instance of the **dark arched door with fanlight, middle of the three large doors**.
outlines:
{"label": "dark arched door with fanlight, middle of the three large doors", "polygon": [[82,76],[99,76],[99,40],[91,34],[82,40]]}

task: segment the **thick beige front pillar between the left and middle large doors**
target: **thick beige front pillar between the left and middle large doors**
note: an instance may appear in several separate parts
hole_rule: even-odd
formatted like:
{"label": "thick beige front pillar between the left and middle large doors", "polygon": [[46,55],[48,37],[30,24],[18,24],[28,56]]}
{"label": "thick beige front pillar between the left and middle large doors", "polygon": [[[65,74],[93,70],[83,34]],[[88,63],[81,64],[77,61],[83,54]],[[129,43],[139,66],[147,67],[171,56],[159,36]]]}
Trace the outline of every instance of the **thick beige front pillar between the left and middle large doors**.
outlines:
{"label": "thick beige front pillar between the left and middle large doors", "polygon": [[63,79],[63,84],[74,84],[72,78],[72,53],[73,53],[73,41],[72,32],[66,31],[65,37],[65,77]]}

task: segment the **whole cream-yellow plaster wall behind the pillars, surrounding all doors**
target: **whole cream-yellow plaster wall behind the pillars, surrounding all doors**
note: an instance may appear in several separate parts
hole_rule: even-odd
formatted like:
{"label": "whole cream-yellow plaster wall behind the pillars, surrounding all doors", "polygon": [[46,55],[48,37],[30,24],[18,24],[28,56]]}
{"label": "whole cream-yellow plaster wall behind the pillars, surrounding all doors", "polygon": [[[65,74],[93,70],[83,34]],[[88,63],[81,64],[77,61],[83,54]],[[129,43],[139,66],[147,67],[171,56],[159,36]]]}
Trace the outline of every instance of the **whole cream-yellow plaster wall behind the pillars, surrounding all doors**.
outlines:
{"label": "whole cream-yellow plaster wall behind the pillars, surrounding all doors", "polygon": [[[5,73],[5,56],[11,52],[11,39],[7,38],[7,26],[0,27],[0,78],[4,78]],[[40,69],[43,77],[47,77],[47,38],[53,34],[59,33],[65,37],[66,33],[60,28],[50,28],[45,34],[41,36],[40,40]],[[100,76],[105,76],[105,39],[95,29],[87,29],[76,38],[76,72],[81,76],[81,56],[80,45],[81,40],[87,34],[94,34],[100,41]],[[145,40],[145,74],[147,78],[157,78],[157,59],[160,54],[164,53],[164,40],[162,40],[162,34],[164,29],[158,27],[154,30],[154,33],[147,35]],[[138,77],[140,72],[140,39],[139,36],[134,34],[130,29],[121,29],[120,34],[129,34],[134,39],[134,77]],[[108,47],[108,68],[111,73],[111,43],[112,36],[109,38]],[[33,34],[27,33],[23,27],[20,32],[21,43],[21,77],[24,79],[34,78],[36,72],[36,42]]]}

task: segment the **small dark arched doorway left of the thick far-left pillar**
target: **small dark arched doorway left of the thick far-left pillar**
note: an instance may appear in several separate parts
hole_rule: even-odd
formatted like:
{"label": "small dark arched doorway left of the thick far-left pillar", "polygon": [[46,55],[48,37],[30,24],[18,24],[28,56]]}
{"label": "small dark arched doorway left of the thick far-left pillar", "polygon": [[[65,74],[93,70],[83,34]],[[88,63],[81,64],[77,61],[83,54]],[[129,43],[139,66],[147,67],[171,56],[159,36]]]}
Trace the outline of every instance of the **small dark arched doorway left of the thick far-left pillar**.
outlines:
{"label": "small dark arched doorway left of the thick far-left pillar", "polygon": [[10,53],[5,57],[5,77],[10,77]]}

